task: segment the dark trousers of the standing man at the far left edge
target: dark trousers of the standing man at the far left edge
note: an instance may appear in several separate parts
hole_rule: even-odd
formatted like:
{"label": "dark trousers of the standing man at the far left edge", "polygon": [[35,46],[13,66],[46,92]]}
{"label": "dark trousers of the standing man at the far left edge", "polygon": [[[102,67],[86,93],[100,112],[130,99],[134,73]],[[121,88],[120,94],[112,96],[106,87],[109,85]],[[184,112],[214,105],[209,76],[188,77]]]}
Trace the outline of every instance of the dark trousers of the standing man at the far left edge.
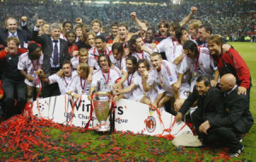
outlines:
{"label": "dark trousers of the standing man at the far left edge", "polygon": [[3,91],[7,118],[20,114],[26,104],[26,84],[24,81],[3,78]]}

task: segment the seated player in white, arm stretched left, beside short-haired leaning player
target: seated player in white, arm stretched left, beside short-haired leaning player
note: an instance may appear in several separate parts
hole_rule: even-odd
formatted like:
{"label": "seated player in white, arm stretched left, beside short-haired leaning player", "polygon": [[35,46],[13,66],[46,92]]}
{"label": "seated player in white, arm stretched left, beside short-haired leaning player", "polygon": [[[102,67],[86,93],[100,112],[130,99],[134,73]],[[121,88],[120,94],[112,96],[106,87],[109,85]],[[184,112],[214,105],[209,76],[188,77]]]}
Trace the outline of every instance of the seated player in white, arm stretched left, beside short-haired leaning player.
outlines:
{"label": "seated player in white, arm stretched left, beside short-haired leaning player", "polygon": [[137,75],[133,82],[130,84],[129,87],[123,89],[123,90],[115,90],[116,94],[124,94],[127,92],[130,92],[131,90],[135,90],[137,87],[139,87],[139,91],[136,90],[136,95],[134,95],[135,101],[140,101],[147,105],[152,105],[150,109],[155,110],[155,108],[159,107],[159,101],[164,96],[165,90],[163,90],[160,86],[157,84],[154,84],[152,86],[151,90],[148,90],[148,92],[145,92],[143,90],[143,82],[147,82],[145,78],[143,78],[144,72],[148,72],[150,65],[146,59],[139,60],[137,62],[137,72],[139,75]]}

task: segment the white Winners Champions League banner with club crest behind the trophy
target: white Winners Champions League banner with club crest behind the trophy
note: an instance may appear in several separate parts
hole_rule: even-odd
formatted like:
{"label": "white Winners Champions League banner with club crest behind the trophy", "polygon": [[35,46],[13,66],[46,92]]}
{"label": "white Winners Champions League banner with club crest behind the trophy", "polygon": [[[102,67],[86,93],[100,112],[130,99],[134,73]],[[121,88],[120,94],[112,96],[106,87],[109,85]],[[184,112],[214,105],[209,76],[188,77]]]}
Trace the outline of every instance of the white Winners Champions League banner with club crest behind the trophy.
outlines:
{"label": "white Winners Champions League banner with club crest behind the trophy", "polygon": [[[34,116],[52,119],[59,124],[84,127],[90,119],[90,101],[87,95],[73,99],[70,95],[58,95],[33,102]],[[90,128],[99,125],[95,113],[92,113]],[[73,116],[73,118],[72,118]],[[107,124],[109,121],[107,120]],[[148,105],[137,101],[120,99],[115,108],[115,130],[130,130],[146,135],[178,136],[189,127],[183,122],[176,123],[175,117],[163,110],[149,111]],[[192,133],[192,132],[191,132]]]}

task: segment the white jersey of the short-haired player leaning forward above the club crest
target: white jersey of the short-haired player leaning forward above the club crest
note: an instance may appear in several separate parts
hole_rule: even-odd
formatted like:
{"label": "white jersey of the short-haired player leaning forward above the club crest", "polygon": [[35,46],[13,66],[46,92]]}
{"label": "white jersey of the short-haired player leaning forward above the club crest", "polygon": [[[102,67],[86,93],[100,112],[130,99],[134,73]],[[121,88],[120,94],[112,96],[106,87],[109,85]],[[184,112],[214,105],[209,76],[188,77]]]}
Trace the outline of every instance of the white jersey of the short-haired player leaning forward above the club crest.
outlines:
{"label": "white jersey of the short-haired player leaning forward above the club crest", "polygon": [[160,72],[152,69],[148,74],[148,84],[153,85],[155,83],[161,85],[169,95],[174,95],[172,84],[176,82],[177,72],[169,61],[162,61]]}

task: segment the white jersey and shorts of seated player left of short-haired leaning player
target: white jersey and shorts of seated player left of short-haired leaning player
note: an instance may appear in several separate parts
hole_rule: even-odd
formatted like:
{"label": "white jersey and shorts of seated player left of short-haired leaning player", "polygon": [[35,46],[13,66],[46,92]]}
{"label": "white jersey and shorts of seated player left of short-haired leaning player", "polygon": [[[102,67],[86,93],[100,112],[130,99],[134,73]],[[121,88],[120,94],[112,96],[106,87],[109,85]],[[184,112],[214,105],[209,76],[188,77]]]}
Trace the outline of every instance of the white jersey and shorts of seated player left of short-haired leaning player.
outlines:
{"label": "white jersey and shorts of seated player left of short-haired leaning player", "polygon": [[144,92],[143,78],[141,75],[138,75],[136,78],[134,78],[133,83],[136,84],[137,87],[139,87],[139,89],[143,92],[143,95],[137,95],[137,97],[139,97],[138,101],[140,101],[143,98],[143,96],[146,95],[150,98],[150,101],[153,103],[157,95],[165,92],[165,90],[163,90],[159,84],[153,84],[152,89],[148,90],[148,92]]}

